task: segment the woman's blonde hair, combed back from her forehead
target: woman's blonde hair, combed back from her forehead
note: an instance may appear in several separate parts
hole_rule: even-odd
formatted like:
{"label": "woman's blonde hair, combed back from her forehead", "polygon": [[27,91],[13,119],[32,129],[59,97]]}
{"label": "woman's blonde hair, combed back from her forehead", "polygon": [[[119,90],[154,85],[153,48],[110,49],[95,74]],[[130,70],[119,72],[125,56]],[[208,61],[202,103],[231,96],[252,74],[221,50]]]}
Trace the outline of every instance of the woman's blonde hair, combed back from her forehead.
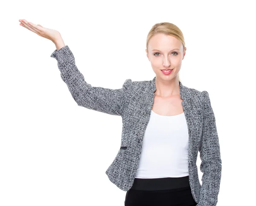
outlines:
{"label": "woman's blonde hair, combed back from her forehead", "polygon": [[[183,51],[184,51],[184,49],[185,49],[184,36],[183,36],[183,33],[181,32],[181,30],[179,29],[179,27],[177,27],[173,23],[162,22],[162,23],[156,23],[154,26],[152,26],[152,28],[148,32],[147,43],[146,43],[147,52],[148,52],[148,42],[149,42],[149,40],[154,35],[159,34],[159,33],[163,33],[163,34],[166,34],[166,35],[171,35],[171,36],[177,38],[178,40],[180,40],[181,43],[183,44]],[[179,77],[179,73],[178,73],[178,77]],[[180,77],[179,77],[179,81],[180,81]]]}

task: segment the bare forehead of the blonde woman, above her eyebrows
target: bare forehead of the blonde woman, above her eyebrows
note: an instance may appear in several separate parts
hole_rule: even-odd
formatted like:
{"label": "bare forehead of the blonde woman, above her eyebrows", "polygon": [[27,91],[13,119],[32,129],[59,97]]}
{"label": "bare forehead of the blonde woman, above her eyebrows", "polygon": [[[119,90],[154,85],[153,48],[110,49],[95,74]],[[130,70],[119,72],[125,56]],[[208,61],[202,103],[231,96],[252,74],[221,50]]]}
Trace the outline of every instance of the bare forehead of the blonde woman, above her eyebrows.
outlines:
{"label": "bare forehead of the blonde woman, above her eyebrows", "polygon": [[156,34],[148,41],[148,47],[152,49],[172,49],[180,48],[182,42],[171,35]]}

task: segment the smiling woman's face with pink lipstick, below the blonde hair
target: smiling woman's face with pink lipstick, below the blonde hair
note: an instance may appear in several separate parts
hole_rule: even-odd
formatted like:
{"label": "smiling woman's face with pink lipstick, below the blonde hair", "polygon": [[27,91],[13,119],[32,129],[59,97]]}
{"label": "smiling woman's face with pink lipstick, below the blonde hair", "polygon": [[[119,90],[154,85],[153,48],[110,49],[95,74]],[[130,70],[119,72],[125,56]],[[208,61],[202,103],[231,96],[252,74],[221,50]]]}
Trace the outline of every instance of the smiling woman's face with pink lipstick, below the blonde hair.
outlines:
{"label": "smiling woman's face with pink lipstick, below the blonde hair", "polygon": [[[160,33],[154,35],[148,42],[148,60],[157,78],[163,80],[178,78],[177,74],[185,54],[186,47],[183,51],[182,42],[170,35]],[[161,70],[172,70],[172,72],[164,74]]]}

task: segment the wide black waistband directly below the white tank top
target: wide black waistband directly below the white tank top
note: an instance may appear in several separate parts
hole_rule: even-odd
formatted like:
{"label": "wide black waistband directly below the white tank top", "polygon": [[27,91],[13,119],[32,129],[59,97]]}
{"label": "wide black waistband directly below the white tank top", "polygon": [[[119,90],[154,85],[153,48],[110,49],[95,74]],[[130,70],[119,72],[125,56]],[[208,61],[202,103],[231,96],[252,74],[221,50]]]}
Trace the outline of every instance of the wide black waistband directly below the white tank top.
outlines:
{"label": "wide black waistband directly below the white tank top", "polygon": [[135,190],[165,190],[190,187],[189,176],[164,177],[153,179],[135,178],[131,189]]}

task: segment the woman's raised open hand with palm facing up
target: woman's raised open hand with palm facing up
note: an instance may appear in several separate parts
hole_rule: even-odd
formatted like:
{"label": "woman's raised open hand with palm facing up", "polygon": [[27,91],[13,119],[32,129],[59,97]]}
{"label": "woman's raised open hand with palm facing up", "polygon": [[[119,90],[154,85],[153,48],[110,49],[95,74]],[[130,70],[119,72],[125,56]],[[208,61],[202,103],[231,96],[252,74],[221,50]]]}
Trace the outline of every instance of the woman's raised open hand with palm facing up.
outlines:
{"label": "woman's raised open hand with palm facing up", "polygon": [[37,35],[41,37],[51,40],[53,43],[55,43],[56,41],[58,41],[58,39],[61,38],[60,32],[56,30],[44,28],[40,24],[34,24],[26,21],[25,19],[20,19],[19,22],[20,26],[23,26],[29,29],[30,31],[35,32]]}

